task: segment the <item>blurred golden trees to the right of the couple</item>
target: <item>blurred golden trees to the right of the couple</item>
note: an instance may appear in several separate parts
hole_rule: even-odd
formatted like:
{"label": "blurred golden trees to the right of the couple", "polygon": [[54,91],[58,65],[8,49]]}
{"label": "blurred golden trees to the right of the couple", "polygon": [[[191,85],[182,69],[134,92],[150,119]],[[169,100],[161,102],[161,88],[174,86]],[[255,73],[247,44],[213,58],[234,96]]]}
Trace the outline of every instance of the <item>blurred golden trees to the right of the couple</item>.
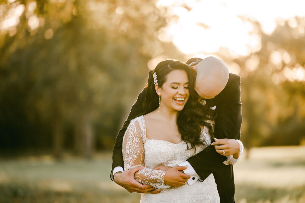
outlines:
{"label": "blurred golden trees to the right of the couple", "polygon": [[221,55],[228,64],[240,67],[241,139],[248,149],[299,145],[305,132],[305,19],[287,20],[271,35],[265,34],[259,23],[244,20],[253,24],[253,33],[261,38],[260,51],[235,60]]}

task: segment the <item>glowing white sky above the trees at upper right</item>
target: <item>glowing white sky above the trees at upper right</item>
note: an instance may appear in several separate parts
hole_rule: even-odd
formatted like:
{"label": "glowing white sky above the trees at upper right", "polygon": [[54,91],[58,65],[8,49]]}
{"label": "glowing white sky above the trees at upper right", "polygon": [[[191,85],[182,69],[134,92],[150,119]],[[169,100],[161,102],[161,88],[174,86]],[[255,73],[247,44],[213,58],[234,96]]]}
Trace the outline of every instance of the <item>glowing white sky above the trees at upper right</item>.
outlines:
{"label": "glowing white sky above the trees at upper right", "polygon": [[[181,6],[185,3],[191,10]],[[289,25],[295,26],[293,17],[305,16],[305,1],[300,0],[159,0],[157,6],[166,6],[170,14],[179,16],[160,30],[160,40],[173,41],[183,53],[197,57],[218,52],[221,47],[228,48],[233,57],[258,51],[260,36],[249,33],[252,24],[238,16],[258,20],[265,33],[272,33],[277,22],[290,19]]]}

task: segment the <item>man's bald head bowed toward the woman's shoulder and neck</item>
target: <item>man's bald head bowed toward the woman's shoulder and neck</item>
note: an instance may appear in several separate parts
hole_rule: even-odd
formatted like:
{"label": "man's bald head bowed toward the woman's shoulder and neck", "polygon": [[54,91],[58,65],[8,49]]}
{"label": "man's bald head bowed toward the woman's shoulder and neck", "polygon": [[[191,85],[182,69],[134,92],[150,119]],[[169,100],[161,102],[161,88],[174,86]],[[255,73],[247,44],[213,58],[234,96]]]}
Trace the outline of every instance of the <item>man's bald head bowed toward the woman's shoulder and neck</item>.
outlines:
{"label": "man's bald head bowed toward the woman's shoulder and neck", "polygon": [[229,69],[224,61],[210,56],[192,67],[197,72],[195,90],[200,97],[211,99],[227,85]]}

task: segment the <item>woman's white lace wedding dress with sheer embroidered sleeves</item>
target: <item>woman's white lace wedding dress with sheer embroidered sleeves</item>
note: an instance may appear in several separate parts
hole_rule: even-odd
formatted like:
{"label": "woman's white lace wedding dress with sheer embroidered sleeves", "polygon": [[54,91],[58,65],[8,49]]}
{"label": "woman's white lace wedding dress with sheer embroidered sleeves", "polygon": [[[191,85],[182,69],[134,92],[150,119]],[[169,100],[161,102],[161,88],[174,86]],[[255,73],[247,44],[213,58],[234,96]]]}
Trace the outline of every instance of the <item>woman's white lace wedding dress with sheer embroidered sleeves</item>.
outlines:
{"label": "woman's white lace wedding dress with sheer embroidered sleeves", "polygon": [[[211,144],[206,127],[201,131],[201,136],[205,140],[205,146]],[[145,166],[135,173],[135,179],[144,185],[162,190],[159,194],[142,193],[141,202],[220,202],[213,174],[203,182],[196,181],[192,185],[186,183],[181,187],[170,187],[163,182],[165,173],[152,169],[161,164],[177,166],[204,148],[197,146],[195,152],[194,149],[187,149],[184,141],[174,144],[149,139],[146,137],[144,117],[136,117],[131,120],[123,138],[124,171],[135,166]]]}

